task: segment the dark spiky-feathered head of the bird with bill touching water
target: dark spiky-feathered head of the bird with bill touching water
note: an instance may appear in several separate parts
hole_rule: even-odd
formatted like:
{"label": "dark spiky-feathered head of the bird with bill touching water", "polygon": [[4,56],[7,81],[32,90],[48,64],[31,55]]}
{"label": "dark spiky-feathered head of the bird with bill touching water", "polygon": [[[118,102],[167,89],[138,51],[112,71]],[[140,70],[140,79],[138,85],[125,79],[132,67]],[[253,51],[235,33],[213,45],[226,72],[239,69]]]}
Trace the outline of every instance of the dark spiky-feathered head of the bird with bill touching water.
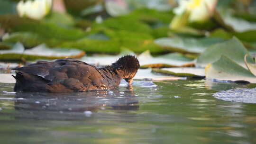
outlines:
{"label": "dark spiky-feathered head of the bird with bill touching water", "polygon": [[131,84],[133,77],[138,71],[139,61],[133,55],[126,55],[119,58],[115,63],[112,63],[111,67],[115,69],[125,81]]}

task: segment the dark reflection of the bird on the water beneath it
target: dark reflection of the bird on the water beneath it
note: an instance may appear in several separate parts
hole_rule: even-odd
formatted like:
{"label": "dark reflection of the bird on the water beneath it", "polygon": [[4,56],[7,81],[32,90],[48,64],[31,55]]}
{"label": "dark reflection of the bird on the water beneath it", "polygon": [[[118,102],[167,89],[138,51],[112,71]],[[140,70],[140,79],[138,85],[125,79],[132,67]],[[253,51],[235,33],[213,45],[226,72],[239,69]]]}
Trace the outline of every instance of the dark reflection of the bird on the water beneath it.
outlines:
{"label": "dark reflection of the bird on the water beneath it", "polygon": [[122,92],[118,89],[76,93],[18,92],[15,98],[17,99],[15,109],[22,112],[23,115],[19,115],[21,117],[58,118],[61,114],[72,112],[82,112],[90,116],[91,112],[102,109],[138,110],[139,108],[132,87],[127,87],[127,90]]}

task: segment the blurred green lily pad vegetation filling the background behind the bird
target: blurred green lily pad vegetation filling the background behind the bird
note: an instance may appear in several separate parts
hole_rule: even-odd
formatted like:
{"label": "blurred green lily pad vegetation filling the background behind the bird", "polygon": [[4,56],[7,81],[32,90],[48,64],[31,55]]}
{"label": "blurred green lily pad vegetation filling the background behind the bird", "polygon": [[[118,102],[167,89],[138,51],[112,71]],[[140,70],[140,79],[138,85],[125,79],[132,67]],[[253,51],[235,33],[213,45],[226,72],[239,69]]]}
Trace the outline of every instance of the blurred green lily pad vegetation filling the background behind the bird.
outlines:
{"label": "blurred green lily pad vegetation filling the background behind the bird", "polygon": [[[174,10],[179,4],[173,0],[59,0],[64,2],[64,7],[60,7],[65,12],[56,9],[54,3],[52,11],[40,20],[19,17],[18,1],[0,0],[0,50],[11,49],[20,42],[25,49],[46,44],[50,48],[79,49],[87,54],[119,54],[123,48],[137,54],[149,50],[154,56],[178,52],[175,54],[183,53],[193,59],[199,56],[206,66],[214,62],[201,59],[207,49],[218,49],[218,45],[225,45],[223,43],[236,37],[236,43],[245,46],[247,54],[256,52],[254,0],[216,0],[216,7],[211,6],[210,15],[203,21],[188,19],[192,10],[179,16]],[[236,46],[227,45],[227,48],[232,51]],[[3,55],[0,52],[0,60],[6,59],[6,54]],[[9,59],[14,59],[14,55],[9,55]],[[215,51],[209,57],[221,55],[221,51]],[[225,53],[236,59],[236,54],[230,55],[232,53]],[[39,58],[35,55],[33,59]],[[166,63],[146,64],[146,67],[174,65],[166,60]]]}

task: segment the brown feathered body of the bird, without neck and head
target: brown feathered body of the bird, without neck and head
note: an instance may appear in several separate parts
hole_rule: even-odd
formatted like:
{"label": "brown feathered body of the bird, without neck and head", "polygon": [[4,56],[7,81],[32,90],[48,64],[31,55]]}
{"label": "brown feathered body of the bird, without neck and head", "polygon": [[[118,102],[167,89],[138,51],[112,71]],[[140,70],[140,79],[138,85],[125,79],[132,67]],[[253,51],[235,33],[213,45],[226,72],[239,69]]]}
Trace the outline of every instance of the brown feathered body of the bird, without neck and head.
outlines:
{"label": "brown feathered body of the bird, without neck and head", "polygon": [[38,61],[16,68],[15,91],[72,92],[109,89],[109,80],[95,66],[74,59]]}

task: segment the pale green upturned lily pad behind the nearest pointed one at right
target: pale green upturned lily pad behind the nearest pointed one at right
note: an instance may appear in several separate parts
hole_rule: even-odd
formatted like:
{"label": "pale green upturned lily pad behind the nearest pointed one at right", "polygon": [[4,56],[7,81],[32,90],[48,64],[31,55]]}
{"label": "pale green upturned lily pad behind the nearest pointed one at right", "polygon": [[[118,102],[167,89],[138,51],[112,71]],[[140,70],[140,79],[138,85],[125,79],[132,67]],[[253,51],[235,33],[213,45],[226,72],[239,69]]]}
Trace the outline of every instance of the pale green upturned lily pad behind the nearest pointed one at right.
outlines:
{"label": "pale green upturned lily pad behind the nearest pointed one at right", "polygon": [[[233,37],[229,41],[207,48],[205,52],[197,58],[196,65],[205,67],[209,63],[217,61],[221,55],[225,55],[239,65],[246,67],[244,64],[244,56],[246,54],[248,54],[248,51],[245,46],[236,37]],[[254,62],[251,56],[248,56],[247,60],[252,63]]]}

